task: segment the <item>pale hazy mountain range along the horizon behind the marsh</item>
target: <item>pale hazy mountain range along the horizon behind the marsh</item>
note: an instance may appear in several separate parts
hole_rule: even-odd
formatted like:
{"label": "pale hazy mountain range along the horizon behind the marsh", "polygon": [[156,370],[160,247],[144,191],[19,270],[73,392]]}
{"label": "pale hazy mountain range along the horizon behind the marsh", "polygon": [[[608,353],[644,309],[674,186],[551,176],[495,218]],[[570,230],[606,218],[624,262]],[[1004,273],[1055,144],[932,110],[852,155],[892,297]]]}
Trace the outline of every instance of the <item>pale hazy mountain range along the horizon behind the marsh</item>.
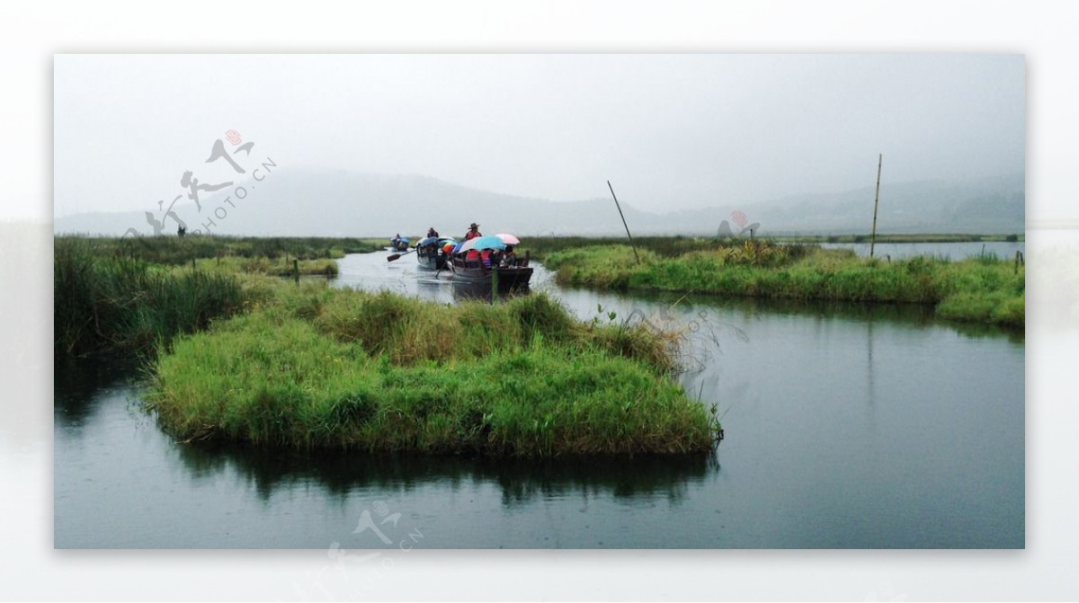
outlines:
{"label": "pale hazy mountain range along the horizon behind the marsh", "polygon": [[[874,188],[834,194],[800,194],[759,203],[727,203],[708,209],[668,214],[640,211],[623,202],[634,234],[715,234],[723,220],[740,228],[740,210],[760,234],[868,233],[873,220]],[[629,191],[627,191],[629,193]],[[241,198],[242,197],[242,198]],[[554,202],[470,189],[423,176],[391,176],[345,170],[284,169],[258,182],[238,182],[228,195],[215,193],[177,203],[176,217],[214,234],[256,236],[416,235],[435,227],[461,236],[469,222],[488,234],[617,235],[624,231],[614,202],[606,196]],[[1020,233],[1024,230],[1022,175],[976,181],[883,182],[877,231],[880,233]],[[149,214],[148,214],[149,213]],[[56,233],[122,235],[128,228],[165,234],[177,224],[163,209],[79,214],[57,218]]]}

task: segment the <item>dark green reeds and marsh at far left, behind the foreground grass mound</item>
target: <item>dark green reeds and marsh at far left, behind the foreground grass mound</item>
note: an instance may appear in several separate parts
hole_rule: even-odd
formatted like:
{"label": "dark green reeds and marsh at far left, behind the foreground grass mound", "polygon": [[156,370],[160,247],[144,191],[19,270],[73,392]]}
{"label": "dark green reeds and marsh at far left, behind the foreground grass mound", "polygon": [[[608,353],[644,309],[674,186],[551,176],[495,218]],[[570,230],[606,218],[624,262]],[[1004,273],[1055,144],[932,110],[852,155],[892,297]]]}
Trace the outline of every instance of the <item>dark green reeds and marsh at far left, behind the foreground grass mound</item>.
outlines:
{"label": "dark green reeds and marsh at far left, behind the foreground grass mound", "polygon": [[54,353],[152,356],[177,334],[241,311],[249,301],[246,288],[257,283],[245,282],[245,274],[293,276],[298,263],[301,275],[333,276],[338,266],[329,258],[373,246],[324,238],[55,237]]}

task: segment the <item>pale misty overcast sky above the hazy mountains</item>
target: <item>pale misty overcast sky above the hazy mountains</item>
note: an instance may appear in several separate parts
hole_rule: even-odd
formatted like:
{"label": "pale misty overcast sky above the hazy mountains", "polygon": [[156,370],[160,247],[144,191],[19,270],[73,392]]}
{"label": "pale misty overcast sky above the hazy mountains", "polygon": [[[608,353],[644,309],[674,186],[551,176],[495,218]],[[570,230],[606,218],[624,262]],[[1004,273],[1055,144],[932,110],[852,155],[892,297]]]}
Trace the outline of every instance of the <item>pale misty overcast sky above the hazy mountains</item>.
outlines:
{"label": "pale misty overcast sky above the hazy mountains", "polygon": [[[55,214],[279,169],[665,211],[1024,170],[1021,55],[57,55]],[[229,150],[234,149],[226,141]],[[227,169],[228,166],[224,166]],[[314,200],[314,202],[317,202]]]}

